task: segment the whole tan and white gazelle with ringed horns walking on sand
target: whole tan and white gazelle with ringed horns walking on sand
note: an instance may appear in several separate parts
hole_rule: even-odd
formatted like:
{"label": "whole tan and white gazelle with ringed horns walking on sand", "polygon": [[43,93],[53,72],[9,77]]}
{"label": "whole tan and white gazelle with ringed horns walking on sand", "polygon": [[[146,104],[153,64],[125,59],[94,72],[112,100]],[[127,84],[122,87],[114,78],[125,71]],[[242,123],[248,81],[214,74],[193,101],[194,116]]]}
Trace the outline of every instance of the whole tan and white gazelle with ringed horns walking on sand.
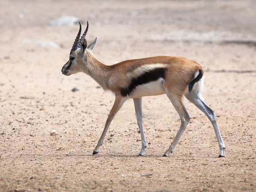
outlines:
{"label": "whole tan and white gazelle with ringed horns walking on sand", "polygon": [[87,46],[85,36],[88,31],[88,22],[81,38],[81,24],[79,23],[79,25],[79,33],[70,51],[69,60],[62,67],[62,74],[70,76],[74,73],[84,72],[91,76],[104,90],[111,90],[116,96],[93,154],[99,153],[99,147],[102,145],[108,127],[116,113],[127,99],[132,98],[142,141],[139,155],[144,156],[147,144],[143,131],[141,98],[166,94],[179,113],[181,124],[172,144],[163,156],[167,157],[169,153],[174,151],[191,119],[183,103],[184,96],[209,118],[218,140],[219,157],[225,156],[225,145],[216,122],[215,112],[204,102],[201,96],[201,90],[204,86],[204,70],[200,64],[183,57],[157,56],[127,60],[107,66],[98,61],[92,53],[97,38]]}

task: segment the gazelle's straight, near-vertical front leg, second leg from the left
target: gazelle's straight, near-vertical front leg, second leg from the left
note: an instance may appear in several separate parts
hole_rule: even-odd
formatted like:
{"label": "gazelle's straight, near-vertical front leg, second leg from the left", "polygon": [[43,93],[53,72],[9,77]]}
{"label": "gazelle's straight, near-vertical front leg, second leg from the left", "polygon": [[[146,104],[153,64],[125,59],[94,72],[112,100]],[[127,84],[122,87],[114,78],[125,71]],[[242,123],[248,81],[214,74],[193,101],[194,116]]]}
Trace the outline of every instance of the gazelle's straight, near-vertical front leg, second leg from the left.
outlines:
{"label": "gazelle's straight, near-vertical front leg, second leg from the left", "polygon": [[137,118],[137,124],[140,129],[140,136],[141,136],[141,150],[140,150],[140,156],[145,155],[145,148],[147,147],[144,131],[143,131],[143,123],[142,123],[142,99],[136,98],[134,99],[134,106],[135,106],[135,112],[136,112],[136,118]]}

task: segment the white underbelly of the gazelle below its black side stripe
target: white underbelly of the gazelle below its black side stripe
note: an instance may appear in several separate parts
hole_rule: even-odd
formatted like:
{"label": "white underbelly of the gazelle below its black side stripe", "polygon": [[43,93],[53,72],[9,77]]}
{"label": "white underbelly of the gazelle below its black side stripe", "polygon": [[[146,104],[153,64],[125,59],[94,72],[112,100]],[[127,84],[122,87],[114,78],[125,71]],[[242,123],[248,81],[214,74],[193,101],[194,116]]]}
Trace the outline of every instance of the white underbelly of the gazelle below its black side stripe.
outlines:
{"label": "white underbelly of the gazelle below its black side stripe", "polygon": [[163,87],[163,79],[158,79],[157,81],[151,81],[146,84],[138,85],[134,91],[131,93],[130,98],[140,98],[143,96],[154,96],[165,94],[165,89]]}

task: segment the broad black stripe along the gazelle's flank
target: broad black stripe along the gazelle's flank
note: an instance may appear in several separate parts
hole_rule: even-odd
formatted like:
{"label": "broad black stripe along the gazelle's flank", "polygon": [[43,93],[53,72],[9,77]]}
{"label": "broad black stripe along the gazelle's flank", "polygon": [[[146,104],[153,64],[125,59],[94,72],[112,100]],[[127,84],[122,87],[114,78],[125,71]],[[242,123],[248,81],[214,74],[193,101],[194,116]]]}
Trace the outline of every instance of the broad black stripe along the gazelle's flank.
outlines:
{"label": "broad black stripe along the gazelle's flank", "polygon": [[166,68],[156,68],[143,73],[142,75],[132,78],[130,85],[128,87],[121,88],[122,96],[131,95],[132,91],[141,84],[146,84],[151,81],[156,81],[157,79],[165,79]]}

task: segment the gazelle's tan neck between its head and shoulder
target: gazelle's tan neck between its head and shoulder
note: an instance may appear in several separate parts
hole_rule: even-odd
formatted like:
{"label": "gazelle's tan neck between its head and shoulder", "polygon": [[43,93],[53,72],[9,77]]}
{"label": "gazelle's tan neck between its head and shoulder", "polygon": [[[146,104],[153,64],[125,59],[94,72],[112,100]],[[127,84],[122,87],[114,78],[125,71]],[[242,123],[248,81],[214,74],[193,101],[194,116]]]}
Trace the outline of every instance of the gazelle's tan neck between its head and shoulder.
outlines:
{"label": "gazelle's tan neck between its head and shoulder", "polygon": [[91,76],[104,90],[108,90],[111,67],[97,60],[90,50],[86,51],[87,62],[82,67],[83,72]]}

